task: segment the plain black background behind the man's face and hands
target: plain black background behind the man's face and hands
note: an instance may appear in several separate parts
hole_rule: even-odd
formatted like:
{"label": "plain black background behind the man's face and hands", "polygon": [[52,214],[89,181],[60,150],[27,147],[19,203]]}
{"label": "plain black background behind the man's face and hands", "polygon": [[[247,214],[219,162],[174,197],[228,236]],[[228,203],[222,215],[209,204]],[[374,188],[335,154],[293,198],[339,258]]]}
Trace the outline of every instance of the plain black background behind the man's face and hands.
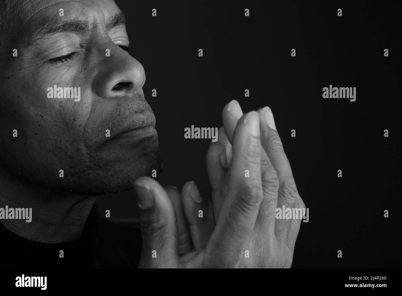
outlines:
{"label": "plain black background behind the man's face and hands", "polygon": [[[116,2],[128,17],[131,55],[146,71],[144,92],[164,158],[162,186],[181,190],[195,180],[209,199],[210,140],[184,139],[184,128],[222,126],[222,108],[232,99],[244,112],[269,106],[310,209],[293,267],[401,267],[396,1]],[[323,99],[330,84],[356,87],[356,101]],[[97,204],[111,210],[111,218],[137,217],[133,191],[104,195]]]}

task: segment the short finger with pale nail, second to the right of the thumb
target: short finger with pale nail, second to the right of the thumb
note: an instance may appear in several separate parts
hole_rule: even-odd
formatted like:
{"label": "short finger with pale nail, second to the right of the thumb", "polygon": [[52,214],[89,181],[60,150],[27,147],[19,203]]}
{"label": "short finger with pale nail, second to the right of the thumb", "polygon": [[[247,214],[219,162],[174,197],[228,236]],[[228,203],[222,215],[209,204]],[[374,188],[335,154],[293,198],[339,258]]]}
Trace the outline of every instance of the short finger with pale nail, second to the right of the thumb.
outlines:
{"label": "short finger with pale nail, second to the right of the thumb", "polygon": [[194,181],[184,184],[181,194],[194,248],[196,251],[202,250],[214,228],[208,208]]}

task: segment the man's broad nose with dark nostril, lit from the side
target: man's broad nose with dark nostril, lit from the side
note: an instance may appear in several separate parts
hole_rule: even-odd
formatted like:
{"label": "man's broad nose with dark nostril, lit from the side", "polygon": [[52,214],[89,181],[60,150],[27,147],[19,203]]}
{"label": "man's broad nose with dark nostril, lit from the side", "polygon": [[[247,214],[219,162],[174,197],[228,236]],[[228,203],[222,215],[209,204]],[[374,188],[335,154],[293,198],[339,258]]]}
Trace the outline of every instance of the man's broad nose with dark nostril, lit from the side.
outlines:
{"label": "man's broad nose with dark nostril, lit from the side", "polygon": [[145,83],[145,70],[140,62],[113,44],[110,56],[100,63],[102,70],[95,79],[95,92],[103,98],[130,95]]}

